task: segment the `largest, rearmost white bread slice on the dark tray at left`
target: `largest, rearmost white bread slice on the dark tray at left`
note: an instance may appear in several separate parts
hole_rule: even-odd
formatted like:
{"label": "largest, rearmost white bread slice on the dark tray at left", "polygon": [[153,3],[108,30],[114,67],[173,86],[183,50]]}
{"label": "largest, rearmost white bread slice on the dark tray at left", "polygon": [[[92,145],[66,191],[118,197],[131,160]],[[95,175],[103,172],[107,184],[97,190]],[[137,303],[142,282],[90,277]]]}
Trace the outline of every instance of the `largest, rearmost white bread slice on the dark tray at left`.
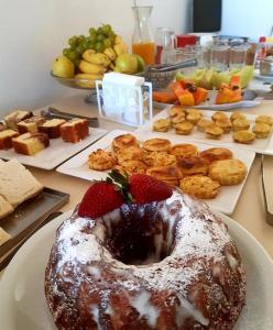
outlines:
{"label": "largest, rearmost white bread slice on the dark tray at left", "polygon": [[0,195],[13,208],[37,195],[42,189],[43,186],[18,160],[14,158],[0,165]]}

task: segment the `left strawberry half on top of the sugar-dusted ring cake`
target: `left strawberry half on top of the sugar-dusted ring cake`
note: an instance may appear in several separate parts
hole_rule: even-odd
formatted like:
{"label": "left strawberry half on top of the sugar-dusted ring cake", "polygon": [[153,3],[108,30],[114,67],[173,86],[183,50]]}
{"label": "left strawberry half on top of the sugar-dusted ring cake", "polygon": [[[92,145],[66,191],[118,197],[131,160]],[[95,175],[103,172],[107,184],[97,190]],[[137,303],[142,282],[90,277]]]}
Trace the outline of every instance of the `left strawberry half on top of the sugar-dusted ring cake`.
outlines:
{"label": "left strawberry half on top of the sugar-dusted ring cake", "polygon": [[96,219],[123,204],[123,197],[110,183],[96,183],[86,191],[79,208],[79,217]]}

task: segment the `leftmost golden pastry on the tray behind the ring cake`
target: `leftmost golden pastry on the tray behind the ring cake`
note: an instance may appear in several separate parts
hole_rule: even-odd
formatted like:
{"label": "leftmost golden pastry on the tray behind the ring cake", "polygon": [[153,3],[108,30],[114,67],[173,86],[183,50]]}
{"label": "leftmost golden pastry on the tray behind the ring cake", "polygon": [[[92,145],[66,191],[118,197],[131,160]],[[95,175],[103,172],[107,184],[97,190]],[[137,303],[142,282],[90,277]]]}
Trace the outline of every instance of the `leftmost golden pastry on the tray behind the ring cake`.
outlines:
{"label": "leftmost golden pastry on the tray behind the ring cake", "polygon": [[97,150],[88,156],[88,167],[95,170],[111,169],[117,164],[117,157],[105,150]]}

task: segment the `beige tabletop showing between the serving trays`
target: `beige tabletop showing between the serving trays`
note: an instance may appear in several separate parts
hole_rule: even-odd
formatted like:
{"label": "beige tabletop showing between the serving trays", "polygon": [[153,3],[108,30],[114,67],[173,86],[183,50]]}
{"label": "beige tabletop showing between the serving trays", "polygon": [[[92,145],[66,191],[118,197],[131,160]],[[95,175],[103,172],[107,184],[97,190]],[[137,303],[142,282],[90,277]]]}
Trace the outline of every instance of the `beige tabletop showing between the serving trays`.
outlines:
{"label": "beige tabletop showing between the serving trays", "polygon": [[[52,103],[51,107],[79,116],[98,117],[99,113],[97,105],[86,103],[85,96],[86,92],[80,91],[72,97],[64,98]],[[258,107],[240,110],[245,113],[272,116],[273,100],[263,100]],[[154,109],[154,113],[157,113],[159,111],[159,109]],[[102,119],[99,119],[99,127],[108,131],[117,129],[127,131],[134,130],[133,127]],[[270,163],[270,169],[272,169],[273,173],[273,157],[269,157],[267,161]],[[61,209],[61,211],[74,209],[81,200],[86,189],[90,185],[88,180],[64,175],[55,170],[45,170],[34,167],[29,167],[29,169],[44,186],[70,195],[69,201]],[[261,155],[259,154],[255,156],[243,191],[239,198],[234,212],[230,216],[230,218],[247,229],[273,258],[273,227],[266,222],[265,205],[262,191]],[[0,273],[0,278],[3,272],[4,271]]]}

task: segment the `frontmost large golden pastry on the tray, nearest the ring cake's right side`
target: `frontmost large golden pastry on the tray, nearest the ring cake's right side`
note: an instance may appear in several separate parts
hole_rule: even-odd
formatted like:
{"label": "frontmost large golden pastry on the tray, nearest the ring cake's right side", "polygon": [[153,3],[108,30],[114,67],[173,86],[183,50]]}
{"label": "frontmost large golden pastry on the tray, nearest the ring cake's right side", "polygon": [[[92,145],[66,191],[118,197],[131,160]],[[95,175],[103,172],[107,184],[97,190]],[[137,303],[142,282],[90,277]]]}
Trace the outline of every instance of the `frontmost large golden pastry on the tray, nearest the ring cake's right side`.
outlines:
{"label": "frontmost large golden pastry on the tray, nearest the ring cake's right side", "polygon": [[193,175],[181,180],[179,188],[194,197],[203,199],[216,198],[220,190],[220,184],[208,176]]}

